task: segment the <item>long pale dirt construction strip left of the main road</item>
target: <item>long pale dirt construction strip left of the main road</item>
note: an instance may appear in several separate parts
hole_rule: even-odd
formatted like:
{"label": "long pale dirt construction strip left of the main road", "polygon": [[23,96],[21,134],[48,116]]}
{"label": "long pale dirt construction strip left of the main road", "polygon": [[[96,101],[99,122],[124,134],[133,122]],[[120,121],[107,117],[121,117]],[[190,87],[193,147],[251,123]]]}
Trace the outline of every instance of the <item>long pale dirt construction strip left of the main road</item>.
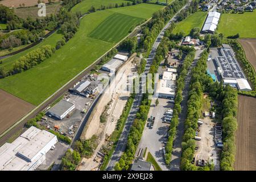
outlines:
{"label": "long pale dirt construction strip left of the main road", "polygon": [[[100,163],[96,162],[94,159],[96,158],[97,152],[100,150],[101,146],[105,143],[106,135],[109,136],[113,133],[115,125],[122,114],[122,110],[130,95],[130,93],[126,91],[126,82],[127,76],[135,71],[135,65],[131,63],[131,60],[133,59],[127,60],[126,63],[119,68],[119,71],[115,76],[115,84],[113,84],[114,81],[112,81],[109,88],[107,88],[102,94],[97,105],[94,107],[92,114],[90,114],[84,131],[82,131],[80,137],[81,140],[89,139],[93,135],[97,135],[100,138],[100,143],[98,144],[92,158],[82,159],[82,166],[79,167],[80,171],[97,170],[100,165]],[[108,109],[108,117],[106,122],[101,123],[100,116],[104,112],[105,106],[109,103],[111,104]]]}

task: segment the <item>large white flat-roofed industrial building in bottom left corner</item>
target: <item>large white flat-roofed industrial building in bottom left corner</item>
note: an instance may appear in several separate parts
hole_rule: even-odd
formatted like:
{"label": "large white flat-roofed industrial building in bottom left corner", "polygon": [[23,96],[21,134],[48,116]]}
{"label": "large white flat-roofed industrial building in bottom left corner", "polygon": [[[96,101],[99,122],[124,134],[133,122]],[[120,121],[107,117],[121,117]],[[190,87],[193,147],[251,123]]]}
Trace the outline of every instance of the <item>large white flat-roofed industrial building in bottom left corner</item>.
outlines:
{"label": "large white flat-roofed industrial building in bottom left corner", "polygon": [[56,135],[31,126],[13,143],[0,147],[0,171],[34,171],[56,143]]}

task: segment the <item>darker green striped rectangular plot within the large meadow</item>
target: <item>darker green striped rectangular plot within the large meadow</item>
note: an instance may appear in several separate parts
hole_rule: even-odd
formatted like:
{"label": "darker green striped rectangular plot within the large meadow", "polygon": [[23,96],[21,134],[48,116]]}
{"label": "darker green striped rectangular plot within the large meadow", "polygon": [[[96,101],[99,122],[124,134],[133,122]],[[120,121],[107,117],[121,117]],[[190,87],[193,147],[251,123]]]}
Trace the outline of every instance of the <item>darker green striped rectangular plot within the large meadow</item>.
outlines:
{"label": "darker green striped rectangular plot within the large meadow", "polygon": [[106,42],[118,42],[123,35],[133,30],[143,19],[129,15],[114,13],[108,16],[91,34],[90,37]]}

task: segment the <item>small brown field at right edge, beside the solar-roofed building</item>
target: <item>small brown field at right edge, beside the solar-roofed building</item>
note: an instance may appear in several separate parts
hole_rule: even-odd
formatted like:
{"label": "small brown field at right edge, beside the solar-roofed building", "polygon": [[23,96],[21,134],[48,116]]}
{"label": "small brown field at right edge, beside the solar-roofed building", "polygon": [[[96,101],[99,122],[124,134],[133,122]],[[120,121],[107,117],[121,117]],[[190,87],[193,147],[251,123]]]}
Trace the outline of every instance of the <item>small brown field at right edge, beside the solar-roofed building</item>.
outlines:
{"label": "small brown field at right edge, beside the solar-roofed building", "polygon": [[256,39],[238,39],[238,42],[245,50],[247,60],[253,65],[256,71]]}

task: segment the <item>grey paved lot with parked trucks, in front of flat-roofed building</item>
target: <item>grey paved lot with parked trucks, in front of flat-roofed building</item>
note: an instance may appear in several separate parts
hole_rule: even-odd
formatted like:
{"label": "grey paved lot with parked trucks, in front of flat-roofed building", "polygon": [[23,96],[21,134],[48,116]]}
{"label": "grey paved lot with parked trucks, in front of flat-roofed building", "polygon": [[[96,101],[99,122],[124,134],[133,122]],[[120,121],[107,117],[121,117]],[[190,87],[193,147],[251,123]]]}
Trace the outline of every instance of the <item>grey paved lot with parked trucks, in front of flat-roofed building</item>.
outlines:
{"label": "grey paved lot with parked trucks, in front of flat-roofed building", "polygon": [[158,106],[155,105],[154,98],[151,101],[151,107],[148,113],[148,117],[150,117],[151,115],[152,117],[155,117],[154,125],[152,126],[152,128],[150,128],[148,127],[147,122],[142,134],[141,142],[139,143],[139,147],[137,149],[137,153],[139,151],[139,148],[147,147],[147,150],[154,156],[156,162],[158,162],[162,170],[167,171],[169,169],[164,161],[162,147],[166,145],[167,134],[170,124],[163,123],[163,119],[165,111],[171,109],[173,107],[173,104],[168,103],[168,99],[165,98],[158,98],[158,101]]}

